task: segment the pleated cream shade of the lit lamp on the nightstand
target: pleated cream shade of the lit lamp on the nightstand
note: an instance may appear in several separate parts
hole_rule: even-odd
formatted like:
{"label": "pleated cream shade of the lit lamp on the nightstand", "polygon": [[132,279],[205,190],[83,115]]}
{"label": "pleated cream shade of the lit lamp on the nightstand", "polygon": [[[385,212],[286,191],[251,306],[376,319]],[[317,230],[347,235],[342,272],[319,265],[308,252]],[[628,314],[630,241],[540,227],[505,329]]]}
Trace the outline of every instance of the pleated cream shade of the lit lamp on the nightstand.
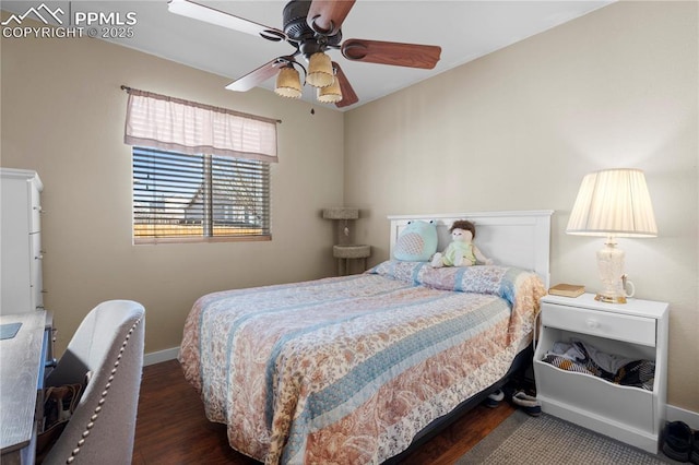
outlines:
{"label": "pleated cream shade of the lit lamp on the nightstand", "polygon": [[609,169],[585,176],[566,233],[584,236],[657,236],[643,171]]}

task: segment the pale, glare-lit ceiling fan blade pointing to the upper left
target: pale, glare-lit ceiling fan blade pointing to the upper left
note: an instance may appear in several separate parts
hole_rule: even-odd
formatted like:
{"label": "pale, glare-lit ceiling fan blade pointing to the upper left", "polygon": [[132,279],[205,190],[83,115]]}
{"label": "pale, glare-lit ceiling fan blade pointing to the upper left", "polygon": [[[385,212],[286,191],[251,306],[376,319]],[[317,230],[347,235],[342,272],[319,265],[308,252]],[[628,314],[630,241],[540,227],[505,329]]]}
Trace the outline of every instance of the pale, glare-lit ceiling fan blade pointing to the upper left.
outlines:
{"label": "pale, glare-lit ceiling fan blade pointing to the upper left", "polygon": [[244,17],[234,16],[214,8],[204,7],[203,4],[189,0],[168,0],[167,9],[170,13],[181,14],[182,16],[193,17],[217,26],[227,27],[229,29],[239,31],[246,34],[260,36],[268,40],[280,41],[286,40],[286,34],[274,27],[258,24]]}

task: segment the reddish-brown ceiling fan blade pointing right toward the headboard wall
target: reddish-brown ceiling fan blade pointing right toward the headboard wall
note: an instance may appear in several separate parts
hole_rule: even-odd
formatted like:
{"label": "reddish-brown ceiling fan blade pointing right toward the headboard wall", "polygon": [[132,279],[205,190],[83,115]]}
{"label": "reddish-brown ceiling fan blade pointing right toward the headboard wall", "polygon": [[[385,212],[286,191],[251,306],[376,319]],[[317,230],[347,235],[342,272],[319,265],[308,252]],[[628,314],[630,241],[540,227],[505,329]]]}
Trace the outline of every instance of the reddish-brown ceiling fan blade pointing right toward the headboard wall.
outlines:
{"label": "reddish-brown ceiling fan blade pointing right toward the headboard wall", "polygon": [[347,39],[341,49],[347,60],[426,70],[435,68],[441,55],[441,47],[436,45],[365,39]]}

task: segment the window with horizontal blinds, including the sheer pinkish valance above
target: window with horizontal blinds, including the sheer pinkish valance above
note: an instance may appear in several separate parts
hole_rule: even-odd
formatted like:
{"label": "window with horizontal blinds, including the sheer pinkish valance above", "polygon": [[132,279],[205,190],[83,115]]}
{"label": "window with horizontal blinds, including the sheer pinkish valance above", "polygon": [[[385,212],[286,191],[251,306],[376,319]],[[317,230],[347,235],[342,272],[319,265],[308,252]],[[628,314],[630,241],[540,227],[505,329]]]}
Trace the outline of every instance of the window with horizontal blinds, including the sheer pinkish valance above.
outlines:
{"label": "window with horizontal blinds, including the sheer pinkish valance above", "polygon": [[270,240],[280,120],[121,86],[133,241]]}

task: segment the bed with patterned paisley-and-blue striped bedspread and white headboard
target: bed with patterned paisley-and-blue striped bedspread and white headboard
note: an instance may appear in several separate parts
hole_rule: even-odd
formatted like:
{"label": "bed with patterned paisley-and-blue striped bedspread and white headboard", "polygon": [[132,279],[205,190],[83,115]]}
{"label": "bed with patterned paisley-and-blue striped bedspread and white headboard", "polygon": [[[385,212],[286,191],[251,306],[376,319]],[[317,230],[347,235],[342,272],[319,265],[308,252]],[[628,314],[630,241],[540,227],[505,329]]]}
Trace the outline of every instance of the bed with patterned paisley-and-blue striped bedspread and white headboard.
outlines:
{"label": "bed with patterned paisley-and-blue striped bedspread and white headboard", "polygon": [[[203,296],[185,325],[185,377],[258,461],[395,460],[522,358],[548,287],[550,215],[390,216],[390,260],[364,274]],[[461,218],[494,265],[394,260],[410,222],[434,222],[442,250]]]}

